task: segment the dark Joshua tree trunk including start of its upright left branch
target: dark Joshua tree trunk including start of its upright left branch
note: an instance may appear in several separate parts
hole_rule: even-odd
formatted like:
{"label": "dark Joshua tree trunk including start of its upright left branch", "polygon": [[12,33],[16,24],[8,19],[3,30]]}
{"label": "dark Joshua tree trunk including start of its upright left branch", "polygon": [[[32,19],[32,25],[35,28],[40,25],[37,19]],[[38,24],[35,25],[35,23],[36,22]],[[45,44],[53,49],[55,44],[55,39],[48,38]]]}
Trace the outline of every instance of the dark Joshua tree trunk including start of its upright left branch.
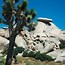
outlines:
{"label": "dark Joshua tree trunk including start of its upright left branch", "polygon": [[16,34],[15,31],[12,30],[13,26],[12,26],[12,22],[10,22],[9,24],[9,48],[8,48],[8,53],[7,53],[7,58],[6,58],[6,63],[5,65],[11,65],[12,63],[12,55],[13,55],[13,49],[14,49],[14,44],[15,44],[15,38],[16,38]]}

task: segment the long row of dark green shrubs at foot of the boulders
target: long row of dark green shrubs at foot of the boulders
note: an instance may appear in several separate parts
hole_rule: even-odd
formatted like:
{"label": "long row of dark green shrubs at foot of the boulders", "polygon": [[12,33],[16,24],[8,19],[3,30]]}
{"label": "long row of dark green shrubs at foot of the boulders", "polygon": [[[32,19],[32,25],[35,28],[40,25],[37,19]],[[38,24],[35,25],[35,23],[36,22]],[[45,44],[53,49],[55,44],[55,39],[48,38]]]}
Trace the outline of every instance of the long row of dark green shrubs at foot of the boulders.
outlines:
{"label": "long row of dark green shrubs at foot of the boulders", "polygon": [[33,51],[30,51],[29,53],[27,51],[23,52],[23,57],[33,57],[36,60],[41,60],[41,61],[53,61],[54,59],[52,59],[52,57],[44,54],[44,53],[40,53],[40,51],[34,53]]}

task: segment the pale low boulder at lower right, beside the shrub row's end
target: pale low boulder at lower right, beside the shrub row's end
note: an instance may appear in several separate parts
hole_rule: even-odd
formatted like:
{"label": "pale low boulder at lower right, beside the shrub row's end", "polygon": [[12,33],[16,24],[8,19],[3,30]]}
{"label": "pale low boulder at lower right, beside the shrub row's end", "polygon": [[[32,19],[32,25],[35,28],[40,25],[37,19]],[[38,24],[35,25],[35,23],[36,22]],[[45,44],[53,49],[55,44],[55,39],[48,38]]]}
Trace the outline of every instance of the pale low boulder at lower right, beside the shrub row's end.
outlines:
{"label": "pale low boulder at lower right, beside the shrub row's end", "polygon": [[55,59],[55,62],[63,62],[65,63],[65,49],[57,49],[55,51],[47,53],[47,55],[51,56]]}

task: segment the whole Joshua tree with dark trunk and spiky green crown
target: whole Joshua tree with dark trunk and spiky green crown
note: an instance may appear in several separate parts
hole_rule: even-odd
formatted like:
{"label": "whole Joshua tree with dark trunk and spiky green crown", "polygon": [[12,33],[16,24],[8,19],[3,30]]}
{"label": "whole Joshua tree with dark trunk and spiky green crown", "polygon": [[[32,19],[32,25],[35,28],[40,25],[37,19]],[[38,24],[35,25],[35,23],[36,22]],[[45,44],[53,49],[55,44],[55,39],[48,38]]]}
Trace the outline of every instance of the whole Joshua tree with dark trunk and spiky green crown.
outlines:
{"label": "whole Joshua tree with dark trunk and spiky green crown", "polygon": [[18,0],[3,0],[3,18],[0,18],[0,23],[8,25],[9,28],[9,48],[6,58],[5,65],[11,65],[12,63],[12,55],[15,44],[16,36],[23,30],[24,26],[34,19],[36,13],[34,9],[27,9],[27,0],[22,0],[22,3],[15,7],[15,3]]}

